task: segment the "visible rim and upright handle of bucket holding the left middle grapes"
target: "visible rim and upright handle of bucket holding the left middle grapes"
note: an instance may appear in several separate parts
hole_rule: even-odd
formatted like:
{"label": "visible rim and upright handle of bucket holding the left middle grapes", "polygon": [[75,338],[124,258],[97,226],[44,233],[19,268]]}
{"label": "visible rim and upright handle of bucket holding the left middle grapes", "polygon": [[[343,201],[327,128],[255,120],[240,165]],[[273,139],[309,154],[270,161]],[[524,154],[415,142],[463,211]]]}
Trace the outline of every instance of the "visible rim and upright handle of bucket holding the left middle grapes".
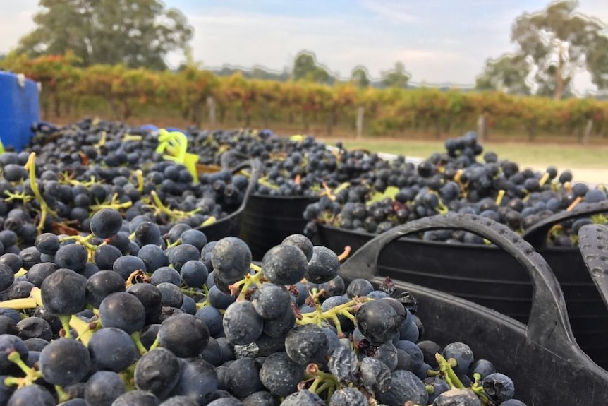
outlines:
{"label": "visible rim and upright handle of bucket holding the left middle grapes", "polygon": [[252,193],[255,189],[255,185],[257,184],[257,179],[260,178],[262,163],[260,160],[248,160],[231,169],[233,174],[236,174],[247,167],[250,168],[251,175],[247,190],[245,191],[245,196],[243,196],[243,203],[238,206],[237,210],[233,211],[226,217],[223,217],[210,225],[199,228],[200,231],[205,233],[208,241],[218,241],[224,237],[238,237],[241,234],[243,213],[249,199],[253,196]]}

